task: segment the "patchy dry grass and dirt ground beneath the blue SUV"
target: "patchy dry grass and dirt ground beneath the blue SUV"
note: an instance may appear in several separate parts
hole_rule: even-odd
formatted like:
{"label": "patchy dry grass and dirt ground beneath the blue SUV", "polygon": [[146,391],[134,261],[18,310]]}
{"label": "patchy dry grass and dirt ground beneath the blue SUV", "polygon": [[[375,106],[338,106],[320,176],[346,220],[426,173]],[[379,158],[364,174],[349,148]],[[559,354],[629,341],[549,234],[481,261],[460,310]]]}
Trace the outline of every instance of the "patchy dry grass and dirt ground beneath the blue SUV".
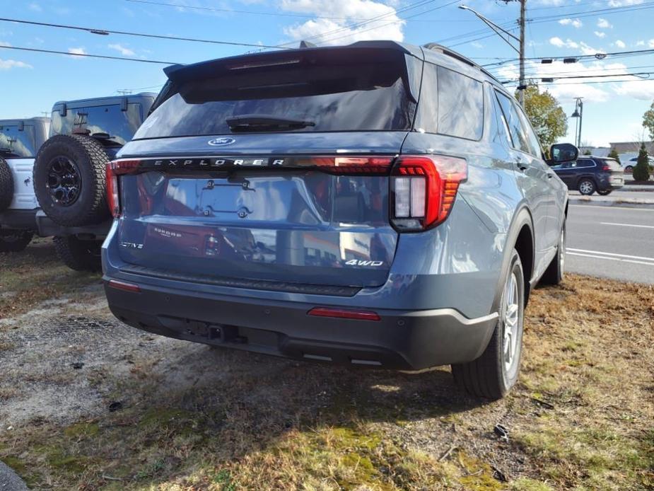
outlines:
{"label": "patchy dry grass and dirt ground beneath the blue SUV", "polygon": [[494,403],[457,392],[448,369],[350,370],[151,336],[112,318],[97,277],[13,312],[0,458],[33,487],[654,487],[653,287],[572,276],[537,289],[520,385]]}

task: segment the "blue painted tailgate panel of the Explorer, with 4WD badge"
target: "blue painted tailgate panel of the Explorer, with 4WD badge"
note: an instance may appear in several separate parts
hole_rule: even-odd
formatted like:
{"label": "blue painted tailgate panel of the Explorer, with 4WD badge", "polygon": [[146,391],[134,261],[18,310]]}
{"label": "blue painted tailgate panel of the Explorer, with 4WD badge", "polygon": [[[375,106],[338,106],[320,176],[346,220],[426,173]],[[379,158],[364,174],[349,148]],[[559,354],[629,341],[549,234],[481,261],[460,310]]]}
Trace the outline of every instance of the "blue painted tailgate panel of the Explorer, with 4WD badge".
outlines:
{"label": "blue painted tailgate panel of the Explorer, with 4WD badge", "polygon": [[[172,138],[163,145],[157,141],[156,154],[149,151],[151,141],[133,141],[122,158],[139,155],[141,169],[121,176],[120,256],[180,277],[380,286],[397,245],[389,224],[388,173],[344,173],[298,163],[354,152],[391,161],[405,136],[314,132]],[[214,140],[228,144],[214,148],[208,144]],[[356,141],[366,141],[366,148]],[[197,155],[202,146],[206,152]],[[175,148],[175,155],[162,154],[165,147]],[[180,149],[195,149],[195,154]]]}

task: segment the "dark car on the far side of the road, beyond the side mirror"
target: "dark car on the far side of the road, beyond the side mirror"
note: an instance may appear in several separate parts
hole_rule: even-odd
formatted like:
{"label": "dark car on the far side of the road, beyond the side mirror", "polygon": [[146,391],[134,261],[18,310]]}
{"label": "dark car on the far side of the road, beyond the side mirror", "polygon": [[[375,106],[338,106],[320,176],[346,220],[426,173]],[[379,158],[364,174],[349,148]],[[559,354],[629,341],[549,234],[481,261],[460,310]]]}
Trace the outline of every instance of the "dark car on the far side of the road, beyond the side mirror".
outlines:
{"label": "dark car on the far side of the road, beyond the side mirror", "polygon": [[624,185],[624,171],[614,158],[583,157],[551,166],[569,190],[582,195],[609,195]]}

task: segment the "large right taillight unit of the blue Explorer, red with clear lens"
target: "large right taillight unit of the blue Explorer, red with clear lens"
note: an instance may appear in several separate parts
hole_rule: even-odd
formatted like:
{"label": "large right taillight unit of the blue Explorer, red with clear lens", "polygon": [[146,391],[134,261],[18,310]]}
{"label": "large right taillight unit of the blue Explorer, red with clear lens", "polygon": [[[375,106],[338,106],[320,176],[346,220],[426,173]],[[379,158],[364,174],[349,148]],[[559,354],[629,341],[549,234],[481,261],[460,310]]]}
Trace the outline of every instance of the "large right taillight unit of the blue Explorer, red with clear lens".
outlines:
{"label": "large right taillight unit of the blue Explorer, red with clear lens", "polygon": [[422,231],[450,214],[460,183],[468,177],[463,158],[401,156],[391,178],[391,218],[400,231]]}

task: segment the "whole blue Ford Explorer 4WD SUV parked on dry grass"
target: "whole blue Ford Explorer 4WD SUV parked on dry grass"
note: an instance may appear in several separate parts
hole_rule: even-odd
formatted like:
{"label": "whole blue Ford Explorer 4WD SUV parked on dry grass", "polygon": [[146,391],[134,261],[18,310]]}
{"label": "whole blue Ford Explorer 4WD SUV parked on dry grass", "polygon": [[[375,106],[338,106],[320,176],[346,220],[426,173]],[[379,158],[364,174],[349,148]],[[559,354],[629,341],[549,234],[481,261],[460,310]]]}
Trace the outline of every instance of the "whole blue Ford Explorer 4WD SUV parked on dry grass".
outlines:
{"label": "whole blue Ford Explorer 4WD SUV parked on dry grass", "polygon": [[567,191],[501,83],[396,42],[165,73],[108,168],[117,318],[298,359],[452,364],[470,393],[506,394],[530,289],[564,272]]}

